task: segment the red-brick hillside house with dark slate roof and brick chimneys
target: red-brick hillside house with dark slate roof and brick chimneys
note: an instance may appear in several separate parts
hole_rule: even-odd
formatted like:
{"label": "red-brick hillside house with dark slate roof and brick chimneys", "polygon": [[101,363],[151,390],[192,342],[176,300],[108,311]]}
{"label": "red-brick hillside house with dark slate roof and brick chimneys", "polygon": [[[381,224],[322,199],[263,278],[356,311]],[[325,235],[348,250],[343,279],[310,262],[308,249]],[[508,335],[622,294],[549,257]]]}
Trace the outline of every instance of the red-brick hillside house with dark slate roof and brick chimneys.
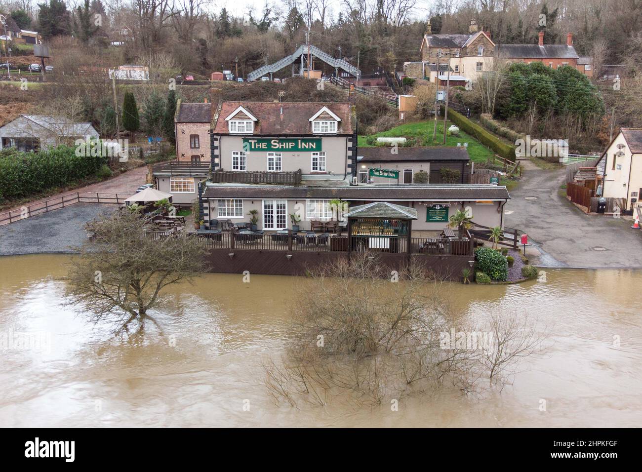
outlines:
{"label": "red-brick hillside house with dark slate roof and brick chimneys", "polygon": [[509,63],[542,62],[544,66],[551,67],[551,69],[571,66],[583,74],[587,73],[586,64],[578,65],[580,57],[573,48],[572,33],[566,35],[566,44],[544,44],[544,31],[540,31],[538,44],[498,44],[496,55]]}

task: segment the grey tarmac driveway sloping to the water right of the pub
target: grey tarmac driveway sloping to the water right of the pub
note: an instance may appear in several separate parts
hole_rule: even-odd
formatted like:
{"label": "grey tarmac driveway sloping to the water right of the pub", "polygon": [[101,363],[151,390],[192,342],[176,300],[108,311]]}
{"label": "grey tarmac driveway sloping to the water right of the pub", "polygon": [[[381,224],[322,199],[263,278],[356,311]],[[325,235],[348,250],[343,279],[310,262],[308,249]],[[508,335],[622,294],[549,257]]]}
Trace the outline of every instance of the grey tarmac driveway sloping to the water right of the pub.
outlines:
{"label": "grey tarmac driveway sloping to the water right of the pub", "polygon": [[[510,192],[505,225],[528,234],[539,267],[642,268],[642,231],[631,220],[589,216],[560,195],[565,170],[526,170]],[[535,199],[527,197],[535,197]]]}

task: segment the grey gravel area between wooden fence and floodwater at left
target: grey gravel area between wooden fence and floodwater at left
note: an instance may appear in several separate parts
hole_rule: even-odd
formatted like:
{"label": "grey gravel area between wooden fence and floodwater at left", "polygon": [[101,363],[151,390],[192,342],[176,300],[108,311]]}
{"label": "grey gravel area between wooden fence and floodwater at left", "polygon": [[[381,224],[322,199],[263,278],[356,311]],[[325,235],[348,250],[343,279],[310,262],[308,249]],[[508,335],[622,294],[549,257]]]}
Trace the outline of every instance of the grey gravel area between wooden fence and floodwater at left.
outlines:
{"label": "grey gravel area between wooden fence and floodwater at left", "polygon": [[0,226],[0,256],[73,252],[87,239],[85,223],[117,205],[78,203],[49,213]]}

